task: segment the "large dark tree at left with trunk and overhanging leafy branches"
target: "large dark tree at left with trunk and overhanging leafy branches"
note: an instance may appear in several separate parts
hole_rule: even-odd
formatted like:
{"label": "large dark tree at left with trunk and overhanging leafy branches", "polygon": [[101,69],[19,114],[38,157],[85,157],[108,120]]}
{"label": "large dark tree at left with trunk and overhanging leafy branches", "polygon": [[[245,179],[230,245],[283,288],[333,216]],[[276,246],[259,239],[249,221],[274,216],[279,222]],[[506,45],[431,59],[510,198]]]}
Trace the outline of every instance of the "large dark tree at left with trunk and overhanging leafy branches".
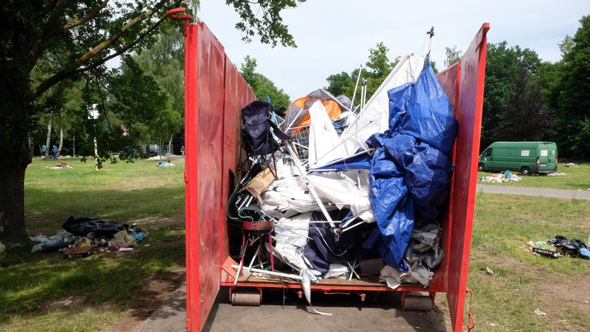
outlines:
{"label": "large dark tree at left with trunk and overhanging leafy branches", "polygon": [[[187,2],[194,8],[198,1]],[[261,42],[273,46],[279,43],[295,46],[293,36],[282,21],[281,11],[294,8],[301,2],[226,1],[239,14],[237,28],[246,34],[246,41],[259,35]],[[0,131],[0,146],[3,147],[4,158],[0,160],[0,174],[6,180],[0,187],[0,241],[12,243],[26,240],[24,174],[31,160],[29,138],[37,131],[37,122],[63,113],[67,102],[65,98],[68,93],[75,95],[77,89],[82,93],[75,97],[79,105],[74,107],[76,120],[72,122],[81,122],[79,128],[85,127],[86,133],[93,133],[105,142],[114,141],[109,137],[120,137],[113,134],[117,130],[122,131],[121,127],[117,129],[114,125],[118,118],[137,120],[139,113],[149,109],[135,109],[133,105],[138,106],[141,101],[114,92],[119,89],[115,89],[117,84],[125,85],[125,71],[135,71],[131,59],[125,59],[127,68],[122,68],[120,73],[114,73],[106,64],[110,59],[154,44],[154,33],[165,20],[165,10],[181,4],[187,3],[182,0],[2,2],[0,106],[3,116],[0,117],[0,127],[3,130]],[[148,73],[157,73],[158,70],[165,71],[165,68],[155,68]],[[145,83],[142,85],[149,88],[149,75],[142,74],[141,77]],[[163,82],[164,79],[158,80]],[[158,91],[156,88],[160,86],[154,86],[147,94],[145,91],[133,91],[133,95],[160,104],[163,102],[160,111],[165,113],[151,113],[151,116],[164,116],[174,122],[173,118],[177,116],[169,110],[174,107],[178,113],[180,102],[177,93]],[[157,101],[154,95],[158,97]],[[98,119],[100,123],[88,121],[89,107],[94,104],[103,109]],[[161,128],[168,128],[167,124]],[[107,145],[101,145],[105,151],[109,149]]]}

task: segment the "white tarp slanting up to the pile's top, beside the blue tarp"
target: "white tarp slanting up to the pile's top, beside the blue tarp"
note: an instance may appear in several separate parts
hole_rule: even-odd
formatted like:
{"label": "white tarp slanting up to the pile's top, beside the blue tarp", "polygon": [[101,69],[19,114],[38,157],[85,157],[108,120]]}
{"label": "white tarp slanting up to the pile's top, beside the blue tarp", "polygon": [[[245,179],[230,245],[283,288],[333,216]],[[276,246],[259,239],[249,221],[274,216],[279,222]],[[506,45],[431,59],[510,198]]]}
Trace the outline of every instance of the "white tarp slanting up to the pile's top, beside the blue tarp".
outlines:
{"label": "white tarp slanting up to the pile's top, beside the blue tarp", "polygon": [[377,91],[358,114],[354,124],[344,130],[340,138],[346,140],[347,153],[351,156],[374,133],[382,133],[389,128],[389,95],[387,91],[409,82],[416,82],[424,66],[423,57],[406,55],[391,70]]}

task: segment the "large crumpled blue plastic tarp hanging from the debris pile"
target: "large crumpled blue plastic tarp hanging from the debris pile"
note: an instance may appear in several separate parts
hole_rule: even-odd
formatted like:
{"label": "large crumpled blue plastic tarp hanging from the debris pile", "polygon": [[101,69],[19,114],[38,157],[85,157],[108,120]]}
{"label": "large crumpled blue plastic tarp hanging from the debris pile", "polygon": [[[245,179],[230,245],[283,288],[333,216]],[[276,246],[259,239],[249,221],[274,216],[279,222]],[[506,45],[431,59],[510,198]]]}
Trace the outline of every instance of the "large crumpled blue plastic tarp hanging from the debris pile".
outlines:
{"label": "large crumpled blue plastic tarp hanging from the debris pile", "polygon": [[416,83],[389,91],[389,130],[367,140],[375,148],[369,201],[378,233],[363,244],[378,246],[387,265],[407,270],[403,256],[414,221],[436,221],[448,191],[448,155],[456,136],[457,120],[430,62]]}

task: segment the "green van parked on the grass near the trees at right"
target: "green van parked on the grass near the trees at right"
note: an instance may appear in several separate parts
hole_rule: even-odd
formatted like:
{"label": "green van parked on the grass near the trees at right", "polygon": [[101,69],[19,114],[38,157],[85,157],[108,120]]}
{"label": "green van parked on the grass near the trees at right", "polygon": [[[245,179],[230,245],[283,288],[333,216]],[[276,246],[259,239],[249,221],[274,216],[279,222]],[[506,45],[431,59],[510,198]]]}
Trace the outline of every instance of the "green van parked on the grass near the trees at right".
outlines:
{"label": "green van parked on the grass near the trees at right", "polygon": [[479,156],[479,171],[549,174],[557,171],[557,145],[553,142],[493,142]]}

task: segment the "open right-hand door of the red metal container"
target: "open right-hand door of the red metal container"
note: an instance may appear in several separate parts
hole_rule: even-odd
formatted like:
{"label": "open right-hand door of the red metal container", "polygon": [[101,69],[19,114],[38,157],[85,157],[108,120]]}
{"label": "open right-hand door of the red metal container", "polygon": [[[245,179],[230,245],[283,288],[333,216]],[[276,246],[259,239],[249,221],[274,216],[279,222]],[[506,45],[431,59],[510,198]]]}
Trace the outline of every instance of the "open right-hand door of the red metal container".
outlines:
{"label": "open right-hand door of the red metal container", "polygon": [[465,292],[471,248],[475,185],[479,136],[481,135],[481,111],[483,108],[483,82],[486,75],[486,34],[489,24],[483,24],[468,50],[461,58],[459,104],[457,121],[459,133],[455,154],[451,194],[451,241],[448,252],[447,299],[453,331],[463,327]]}

